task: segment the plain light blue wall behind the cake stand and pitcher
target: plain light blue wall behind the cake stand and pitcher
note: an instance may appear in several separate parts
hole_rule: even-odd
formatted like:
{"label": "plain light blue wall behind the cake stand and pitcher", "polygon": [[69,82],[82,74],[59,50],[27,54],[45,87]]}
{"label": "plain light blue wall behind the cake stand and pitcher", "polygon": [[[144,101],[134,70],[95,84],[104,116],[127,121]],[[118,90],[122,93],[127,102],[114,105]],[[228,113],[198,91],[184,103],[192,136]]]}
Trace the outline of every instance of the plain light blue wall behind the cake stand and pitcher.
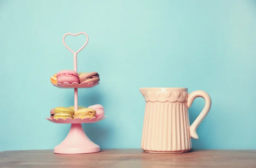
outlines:
{"label": "plain light blue wall behind the cake stand and pitcher", "polygon": [[[140,148],[140,87],[188,87],[212,98],[194,148],[256,149],[256,1],[1,0],[0,150],[64,140],[70,125],[44,118],[73,105],[73,90],[49,78],[73,69],[62,37],[80,31],[89,43],[78,70],[97,71],[101,84],[79,89],[79,105],[105,106],[107,119],[83,125],[101,148]],[[75,50],[84,40],[66,41]],[[203,107],[196,99],[191,123]]]}

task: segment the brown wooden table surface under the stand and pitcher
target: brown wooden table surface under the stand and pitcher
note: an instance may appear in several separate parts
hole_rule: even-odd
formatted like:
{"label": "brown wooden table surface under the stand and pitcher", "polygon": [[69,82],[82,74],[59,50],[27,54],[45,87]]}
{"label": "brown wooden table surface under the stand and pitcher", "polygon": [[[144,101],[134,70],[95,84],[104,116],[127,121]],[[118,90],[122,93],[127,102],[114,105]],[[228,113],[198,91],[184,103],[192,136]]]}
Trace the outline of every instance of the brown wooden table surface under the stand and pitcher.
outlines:
{"label": "brown wooden table surface under the stand and pitcher", "polygon": [[75,155],[52,150],[3,151],[0,168],[256,168],[256,151],[151,154],[140,149],[111,149]]}

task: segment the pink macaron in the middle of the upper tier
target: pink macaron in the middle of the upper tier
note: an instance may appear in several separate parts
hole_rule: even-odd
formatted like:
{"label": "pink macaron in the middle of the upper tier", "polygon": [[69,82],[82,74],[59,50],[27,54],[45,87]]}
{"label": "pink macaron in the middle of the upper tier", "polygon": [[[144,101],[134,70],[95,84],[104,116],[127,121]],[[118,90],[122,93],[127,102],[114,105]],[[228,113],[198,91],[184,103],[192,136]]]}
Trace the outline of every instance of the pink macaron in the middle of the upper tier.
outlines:
{"label": "pink macaron in the middle of the upper tier", "polygon": [[79,75],[76,71],[73,70],[61,70],[57,73],[57,82],[64,84],[64,82],[68,82],[72,84],[73,82],[79,83]]}

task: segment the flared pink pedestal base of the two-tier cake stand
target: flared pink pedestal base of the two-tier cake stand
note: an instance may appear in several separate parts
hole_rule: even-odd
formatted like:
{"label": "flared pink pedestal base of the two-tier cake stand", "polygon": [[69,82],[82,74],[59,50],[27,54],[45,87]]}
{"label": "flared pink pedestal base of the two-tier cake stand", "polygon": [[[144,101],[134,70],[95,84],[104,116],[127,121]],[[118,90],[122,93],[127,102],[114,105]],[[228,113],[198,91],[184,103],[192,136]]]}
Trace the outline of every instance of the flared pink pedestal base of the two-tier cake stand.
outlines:
{"label": "flared pink pedestal base of the two-tier cake stand", "polygon": [[81,123],[71,124],[67,137],[54,148],[55,154],[88,154],[99,151],[99,145],[87,137]]}

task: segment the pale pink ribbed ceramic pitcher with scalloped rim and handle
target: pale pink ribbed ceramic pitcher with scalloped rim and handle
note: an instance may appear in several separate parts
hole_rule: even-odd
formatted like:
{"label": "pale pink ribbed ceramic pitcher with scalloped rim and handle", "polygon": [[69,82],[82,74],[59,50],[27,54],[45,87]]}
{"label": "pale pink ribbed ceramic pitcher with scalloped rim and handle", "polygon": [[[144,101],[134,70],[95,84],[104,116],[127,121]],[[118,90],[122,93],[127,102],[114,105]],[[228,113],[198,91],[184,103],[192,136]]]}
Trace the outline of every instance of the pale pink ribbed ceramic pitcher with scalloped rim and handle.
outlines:
{"label": "pale pink ribbed ceramic pitcher with scalloped rim and handle", "polygon": [[[151,153],[183,153],[191,150],[191,137],[208,114],[211,98],[201,90],[188,93],[187,88],[140,88],[145,98],[145,115],[141,148]],[[194,123],[189,124],[188,108],[202,97],[205,106]]]}

